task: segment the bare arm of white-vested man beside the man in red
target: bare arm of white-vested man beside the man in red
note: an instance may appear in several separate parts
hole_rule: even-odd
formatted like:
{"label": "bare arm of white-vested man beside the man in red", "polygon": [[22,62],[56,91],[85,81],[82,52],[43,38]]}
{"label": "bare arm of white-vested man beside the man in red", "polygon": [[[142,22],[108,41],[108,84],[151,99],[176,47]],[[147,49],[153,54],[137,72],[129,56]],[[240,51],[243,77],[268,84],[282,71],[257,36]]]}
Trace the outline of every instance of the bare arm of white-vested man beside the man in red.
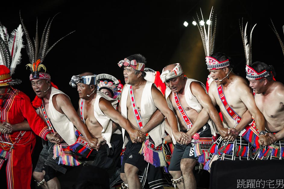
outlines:
{"label": "bare arm of white-vested man beside the man in red", "polygon": [[[54,107],[61,110],[68,117],[68,119],[70,119],[70,121],[73,123],[73,125],[76,126],[78,131],[80,131],[80,133],[86,138],[90,147],[98,150],[98,147],[96,145],[97,139],[92,137],[87,126],[78,116],[68,96],[64,94],[58,94],[54,95],[53,98],[56,98],[55,101],[52,99]],[[56,102],[56,104],[54,102]]]}

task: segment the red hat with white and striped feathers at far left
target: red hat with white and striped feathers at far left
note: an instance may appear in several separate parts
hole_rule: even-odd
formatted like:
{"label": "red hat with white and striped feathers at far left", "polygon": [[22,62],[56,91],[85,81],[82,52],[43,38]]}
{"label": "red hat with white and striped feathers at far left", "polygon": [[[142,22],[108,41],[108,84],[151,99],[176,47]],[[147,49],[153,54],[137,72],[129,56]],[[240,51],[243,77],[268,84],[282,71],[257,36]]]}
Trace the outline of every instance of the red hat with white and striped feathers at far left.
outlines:
{"label": "red hat with white and striped feathers at far left", "polygon": [[0,71],[0,86],[21,83],[21,80],[12,79],[11,76],[21,61],[21,48],[24,47],[23,34],[20,24],[9,37],[6,27],[0,22],[0,65],[5,66]]}

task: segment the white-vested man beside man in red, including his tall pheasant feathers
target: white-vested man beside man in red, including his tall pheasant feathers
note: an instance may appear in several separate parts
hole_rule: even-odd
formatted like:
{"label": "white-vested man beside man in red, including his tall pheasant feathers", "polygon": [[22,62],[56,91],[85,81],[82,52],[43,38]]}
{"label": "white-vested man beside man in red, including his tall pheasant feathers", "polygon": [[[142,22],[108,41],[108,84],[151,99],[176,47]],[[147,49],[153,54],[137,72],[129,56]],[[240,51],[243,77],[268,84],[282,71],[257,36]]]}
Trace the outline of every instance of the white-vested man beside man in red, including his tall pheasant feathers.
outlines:
{"label": "white-vested man beside man in red, including his tall pheasant feathers", "polygon": [[38,44],[37,23],[34,44],[22,19],[21,23],[27,39],[27,54],[30,60],[30,64],[27,64],[27,66],[30,67],[31,71],[30,81],[36,93],[36,98],[32,104],[37,109],[39,116],[45,120],[49,130],[54,135],[62,138],[61,144],[43,143],[43,150],[39,154],[33,177],[38,182],[38,186],[60,188],[58,178],[56,177],[58,172],[65,174],[67,171],[65,166],[77,166],[80,164],[78,156],[68,149],[69,145],[76,142],[75,131],[78,129],[84,134],[89,148],[97,149],[99,146],[96,145],[97,139],[91,136],[86,125],[80,120],[69,97],[58,90],[56,85],[51,82],[51,76],[46,73],[46,67],[43,65],[46,54],[57,42],[64,38],[59,39],[48,48],[52,20],[50,23],[49,21],[46,23],[40,45]]}

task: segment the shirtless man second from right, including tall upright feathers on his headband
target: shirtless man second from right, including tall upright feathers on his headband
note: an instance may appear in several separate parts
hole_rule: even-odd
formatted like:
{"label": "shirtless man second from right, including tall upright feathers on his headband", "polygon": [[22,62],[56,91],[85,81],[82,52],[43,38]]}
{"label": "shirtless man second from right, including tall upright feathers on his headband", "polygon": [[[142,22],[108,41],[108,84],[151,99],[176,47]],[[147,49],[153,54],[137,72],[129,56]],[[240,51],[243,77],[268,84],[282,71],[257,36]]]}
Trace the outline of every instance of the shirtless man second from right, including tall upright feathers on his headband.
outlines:
{"label": "shirtless man second from right, including tall upright feathers on his headband", "polygon": [[[217,125],[220,137],[210,148],[209,161],[204,166],[206,170],[210,169],[215,160],[249,160],[256,154],[259,144],[267,145],[270,140],[264,135],[260,135],[258,140],[257,129],[264,130],[264,118],[254,103],[247,82],[233,73],[231,60],[226,54],[213,53],[216,32],[213,7],[209,20],[208,33],[205,26],[199,24],[199,19],[197,26],[203,41],[207,69],[213,79],[208,95],[213,105],[219,106],[223,124]],[[254,116],[255,122],[251,123],[249,112]]]}

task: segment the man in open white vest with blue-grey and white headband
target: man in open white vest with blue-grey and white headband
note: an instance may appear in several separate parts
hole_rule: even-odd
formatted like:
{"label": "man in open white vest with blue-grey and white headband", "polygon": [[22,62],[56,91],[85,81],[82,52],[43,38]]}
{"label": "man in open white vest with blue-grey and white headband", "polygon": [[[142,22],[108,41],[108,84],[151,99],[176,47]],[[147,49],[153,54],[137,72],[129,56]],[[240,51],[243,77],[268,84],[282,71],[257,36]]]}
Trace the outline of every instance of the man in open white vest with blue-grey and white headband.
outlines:
{"label": "man in open white vest with blue-grey and white headband", "polygon": [[138,136],[144,139],[145,133],[133,129],[128,120],[116,111],[118,100],[97,91],[96,75],[93,73],[73,76],[70,84],[77,86],[80,97],[77,113],[86,123],[92,137],[98,139],[97,145],[104,141],[107,144],[103,143],[98,151],[93,151],[92,154],[96,157],[87,164],[107,169],[112,176],[123,145],[121,135],[113,134],[112,123],[115,122],[126,129],[131,135],[131,141]]}

